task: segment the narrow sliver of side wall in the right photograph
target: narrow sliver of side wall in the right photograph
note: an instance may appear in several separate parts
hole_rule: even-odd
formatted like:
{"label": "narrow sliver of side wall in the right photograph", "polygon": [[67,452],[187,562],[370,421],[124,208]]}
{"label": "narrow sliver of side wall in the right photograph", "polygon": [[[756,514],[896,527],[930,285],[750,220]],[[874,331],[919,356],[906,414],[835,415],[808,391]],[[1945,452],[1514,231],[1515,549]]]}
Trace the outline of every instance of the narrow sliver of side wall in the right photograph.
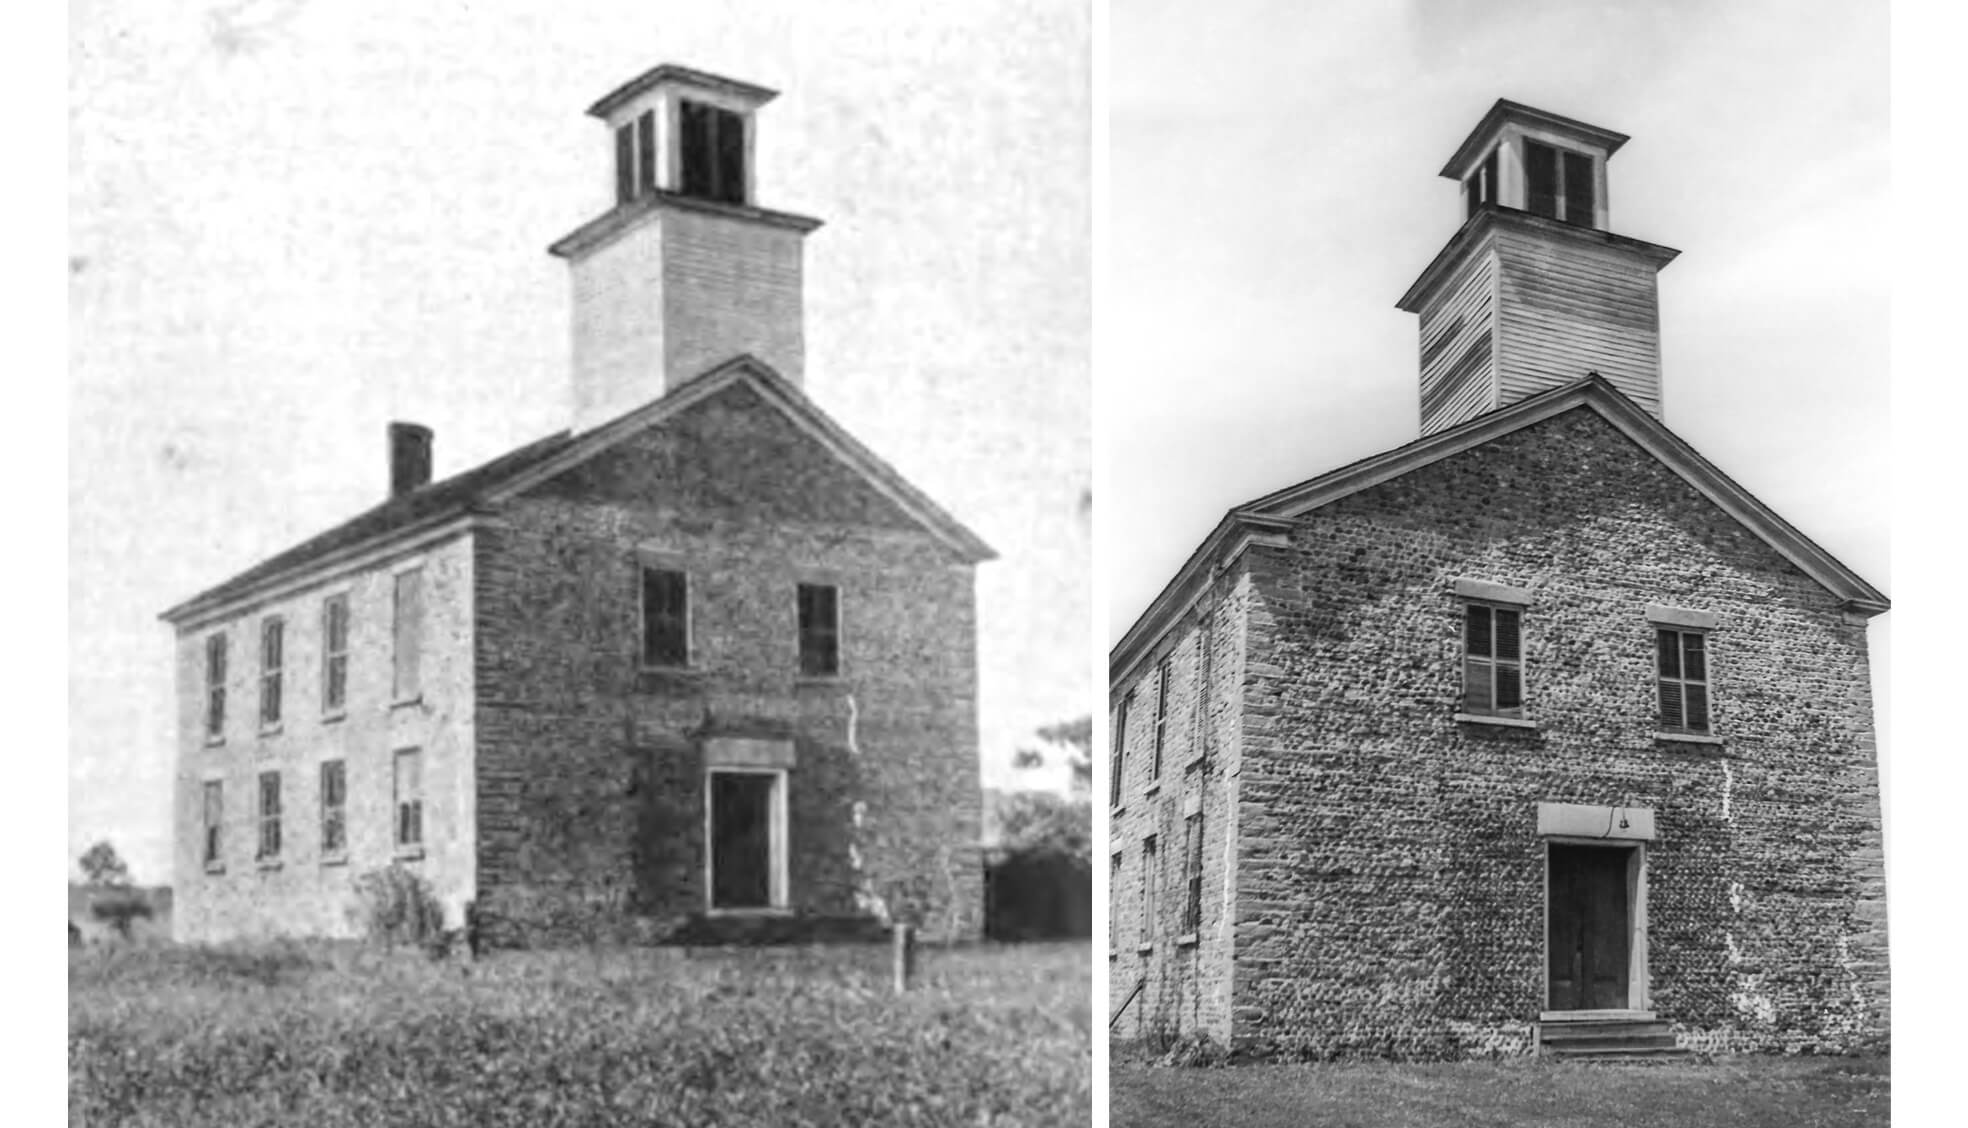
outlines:
{"label": "narrow sliver of side wall in the right photograph", "polygon": [[[1108,730],[1116,732],[1122,699],[1128,719],[1120,803],[1108,823],[1108,994],[1114,1006],[1134,996],[1114,1026],[1118,1037],[1222,1043],[1230,1035],[1246,604],[1240,575],[1218,579],[1187,622],[1116,685]],[[1195,817],[1202,829],[1199,927],[1189,921]]]}

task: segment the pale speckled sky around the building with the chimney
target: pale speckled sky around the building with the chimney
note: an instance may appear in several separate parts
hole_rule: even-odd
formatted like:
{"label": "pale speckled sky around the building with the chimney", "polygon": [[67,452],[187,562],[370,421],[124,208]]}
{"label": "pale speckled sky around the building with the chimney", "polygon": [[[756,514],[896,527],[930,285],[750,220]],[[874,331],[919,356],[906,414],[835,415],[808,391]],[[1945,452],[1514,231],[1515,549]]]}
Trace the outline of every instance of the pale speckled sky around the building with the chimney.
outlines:
{"label": "pale speckled sky around the building with the chimney", "polygon": [[655,63],[781,91],[758,201],[807,238],[807,392],[966,522],[988,782],[1088,711],[1088,14],[248,0],[69,8],[69,835],[167,880],[157,612],[569,417],[586,106]]}

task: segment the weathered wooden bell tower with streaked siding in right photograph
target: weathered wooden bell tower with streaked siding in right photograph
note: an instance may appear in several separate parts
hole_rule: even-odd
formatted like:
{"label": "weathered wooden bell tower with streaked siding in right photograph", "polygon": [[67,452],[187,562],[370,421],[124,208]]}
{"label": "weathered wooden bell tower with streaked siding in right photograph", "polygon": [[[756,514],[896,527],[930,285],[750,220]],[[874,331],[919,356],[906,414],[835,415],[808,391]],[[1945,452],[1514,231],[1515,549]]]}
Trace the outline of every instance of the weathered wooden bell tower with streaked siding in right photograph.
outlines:
{"label": "weathered wooden bell tower with streaked siding in right photograph", "polygon": [[1655,276],[1679,252],[1610,228],[1606,167],[1626,142],[1498,100],[1443,165],[1462,226],[1397,303],[1419,315],[1423,435],[1588,372],[1661,417]]}

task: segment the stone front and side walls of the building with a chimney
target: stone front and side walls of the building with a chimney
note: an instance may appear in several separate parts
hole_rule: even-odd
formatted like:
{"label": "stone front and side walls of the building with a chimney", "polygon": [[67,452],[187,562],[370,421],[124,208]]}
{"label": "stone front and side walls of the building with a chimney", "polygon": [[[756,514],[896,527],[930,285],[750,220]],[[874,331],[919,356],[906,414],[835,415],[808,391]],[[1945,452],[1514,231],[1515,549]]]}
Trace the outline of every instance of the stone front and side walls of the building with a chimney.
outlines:
{"label": "stone front and side walls of the building with a chimney", "polygon": [[[642,671],[642,563],[689,575],[691,667]],[[425,575],[421,695],[392,701],[392,577]],[[799,677],[799,583],[840,589],[840,675]],[[350,600],[348,705],[323,713],[321,600]],[[258,624],[285,616],[283,721],[258,724]],[[226,732],[207,742],[205,638]],[[400,862],[494,945],[659,939],[707,908],[705,744],[793,744],[789,909],[982,929],[974,567],[746,386],[480,514],[451,539],[187,624],[177,638],[179,939],[350,935],[352,878]],[[423,754],[419,856],[392,839],[392,754]],[[348,778],[321,852],[321,762]],[[258,774],[283,848],[256,860]],[[201,860],[224,782],[224,866]]]}

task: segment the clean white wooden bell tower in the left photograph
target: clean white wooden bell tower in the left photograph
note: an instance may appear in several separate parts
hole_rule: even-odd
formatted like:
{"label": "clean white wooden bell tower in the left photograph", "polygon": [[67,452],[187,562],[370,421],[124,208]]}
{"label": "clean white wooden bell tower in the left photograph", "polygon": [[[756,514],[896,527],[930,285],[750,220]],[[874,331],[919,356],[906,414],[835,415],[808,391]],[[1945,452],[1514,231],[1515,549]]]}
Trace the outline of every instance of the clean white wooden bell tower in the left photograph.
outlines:
{"label": "clean white wooden bell tower in the left photograph", "polygon": [[821,220],[756,203],[756,112],[775,96],[661,65],[588,108],[614,207],[549,248],[573,283],[575,429],[740,354],[801,380],[801,254]]}

